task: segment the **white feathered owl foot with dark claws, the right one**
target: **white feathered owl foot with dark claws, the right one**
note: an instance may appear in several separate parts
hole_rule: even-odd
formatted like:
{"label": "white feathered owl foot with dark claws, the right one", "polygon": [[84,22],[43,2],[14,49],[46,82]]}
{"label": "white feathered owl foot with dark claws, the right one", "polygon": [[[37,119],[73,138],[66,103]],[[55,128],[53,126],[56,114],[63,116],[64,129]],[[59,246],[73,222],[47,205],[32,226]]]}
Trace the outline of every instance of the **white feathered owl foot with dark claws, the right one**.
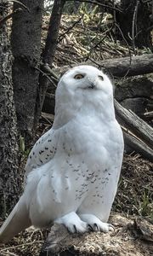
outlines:
{"label": "white feathered owl foot with dark claws, the right one", "polygon": [[111,224],[102,222],[93,214],[79,214],[79,217],[82,219],[82,221],[88,223],[93,231],[102,231],[107,233],[114,230],[114,227]]}

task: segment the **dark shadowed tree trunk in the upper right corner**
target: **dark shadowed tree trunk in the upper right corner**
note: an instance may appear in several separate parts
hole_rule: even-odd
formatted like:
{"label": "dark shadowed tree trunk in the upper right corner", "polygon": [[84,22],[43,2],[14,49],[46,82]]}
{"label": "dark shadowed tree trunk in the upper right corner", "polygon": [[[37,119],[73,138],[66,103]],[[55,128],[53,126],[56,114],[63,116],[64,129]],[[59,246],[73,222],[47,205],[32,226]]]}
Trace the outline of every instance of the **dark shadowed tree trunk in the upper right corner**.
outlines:
{"label": "dark shadowed tree trunk in the upper right corner", "polygon": [[[151,11],[148,3],[139,0],[122,0],[122,13],[116,13],[116,22],[119,24],[127,43],[139,48],[152,49],[150,37]],[[145,1],[146,2],[146,1]],[[122,35],[120,35],[122,37]]]}

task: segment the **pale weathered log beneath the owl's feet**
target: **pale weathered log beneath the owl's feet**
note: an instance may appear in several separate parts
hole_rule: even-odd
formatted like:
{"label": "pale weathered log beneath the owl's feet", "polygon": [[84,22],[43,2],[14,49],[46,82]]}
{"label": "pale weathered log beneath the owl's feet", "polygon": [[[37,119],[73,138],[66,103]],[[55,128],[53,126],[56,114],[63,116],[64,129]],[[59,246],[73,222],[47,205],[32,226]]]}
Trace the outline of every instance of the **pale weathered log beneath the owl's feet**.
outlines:
{"label": "pale weathered log beneath the owl's feet", "polygon": [[[74,255],[142,255],[153,253],[153,225],[143,218],[124,218],[114,214],[111,223],[115,231],[70,234],[65,226],[54,224],[39,256]],[[130,252],[130,254],[129,254]]]}

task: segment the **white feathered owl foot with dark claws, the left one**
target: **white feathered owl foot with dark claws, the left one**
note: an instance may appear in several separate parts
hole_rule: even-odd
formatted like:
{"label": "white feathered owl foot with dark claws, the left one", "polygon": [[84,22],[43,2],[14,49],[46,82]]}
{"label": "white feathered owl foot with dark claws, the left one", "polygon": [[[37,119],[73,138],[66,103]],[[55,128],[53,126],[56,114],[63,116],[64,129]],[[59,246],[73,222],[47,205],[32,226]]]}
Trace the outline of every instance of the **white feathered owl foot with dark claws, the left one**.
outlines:
{"label": "white feathered owl foot with dark claws, the left one", "polygon": [[64,224],[71,233],[84,233],[88,231],[88,224],[78,217],[76,212],[70,212],[61,218],[54,220],[54,223]]}

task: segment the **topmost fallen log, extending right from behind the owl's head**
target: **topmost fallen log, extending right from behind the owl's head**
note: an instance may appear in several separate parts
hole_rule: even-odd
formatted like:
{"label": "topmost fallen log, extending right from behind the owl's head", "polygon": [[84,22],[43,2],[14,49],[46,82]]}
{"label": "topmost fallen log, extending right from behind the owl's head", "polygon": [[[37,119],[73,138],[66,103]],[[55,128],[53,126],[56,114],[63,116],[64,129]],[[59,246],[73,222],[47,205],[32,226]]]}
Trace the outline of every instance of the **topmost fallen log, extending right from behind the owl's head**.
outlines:
{"label": "topmost fallen log, extending right from behind the owl's head", "polygon": [[[124,58],[108,59],[105,61],[86,61],[81,65],[92,65],[108,70],[114,77],[130,77],[145,73],[153,73],[153,54],[138,55]],[[78,66],[78,63],[71,67]],[[59,67],[59,73],[65,72],[70,66]],[[57,68],[54,69],[57,73]]]}

